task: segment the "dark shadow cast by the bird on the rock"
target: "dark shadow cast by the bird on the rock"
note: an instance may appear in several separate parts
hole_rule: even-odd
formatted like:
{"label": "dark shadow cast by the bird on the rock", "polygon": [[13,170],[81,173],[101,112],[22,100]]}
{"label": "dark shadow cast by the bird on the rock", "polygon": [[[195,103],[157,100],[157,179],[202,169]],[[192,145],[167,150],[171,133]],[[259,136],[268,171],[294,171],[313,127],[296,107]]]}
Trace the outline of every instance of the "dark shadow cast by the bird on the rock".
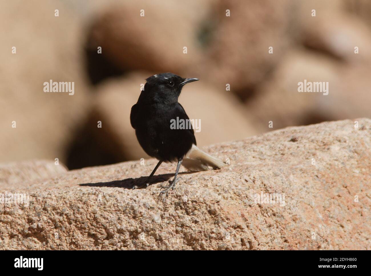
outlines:
{"label": "dark shadow cast by the bird on the rock", "polygon": [[[180,172],[178,175],[188,174],[192,172]],[[168,181],[169,179],[173,178],[174,173],[166,173],[163,175],[154,175],[152,176],[149,185],[161,183],[164,181]],[[117,187],[117,188],[126,188],[132,189],[133,186],[138,186],[138,188],[146,188],[148,176],[141,176],[139,178],[127,178],[122,180],[115,180],[115,181],[108,181],[108,182],[97,182],[97,183],[84,183],[79,184],[79,186],[90,186],[90,187]]]}

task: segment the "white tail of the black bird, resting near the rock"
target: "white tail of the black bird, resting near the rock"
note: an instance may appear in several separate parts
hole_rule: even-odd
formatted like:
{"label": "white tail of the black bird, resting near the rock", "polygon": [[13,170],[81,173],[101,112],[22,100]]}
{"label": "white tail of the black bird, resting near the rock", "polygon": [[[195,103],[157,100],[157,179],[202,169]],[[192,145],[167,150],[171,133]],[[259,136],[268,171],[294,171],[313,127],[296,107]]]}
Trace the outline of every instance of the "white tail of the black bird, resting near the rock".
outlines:
{"label": "white tail of the black bird, resting near the rock", "polygon": [[184,156],[182,165],[189,171],[207,171],[209,166],[213,169],[221,169],[226,166],[220,159],[208,155],[200,150],[196,145],[192,145],[191,150]]}

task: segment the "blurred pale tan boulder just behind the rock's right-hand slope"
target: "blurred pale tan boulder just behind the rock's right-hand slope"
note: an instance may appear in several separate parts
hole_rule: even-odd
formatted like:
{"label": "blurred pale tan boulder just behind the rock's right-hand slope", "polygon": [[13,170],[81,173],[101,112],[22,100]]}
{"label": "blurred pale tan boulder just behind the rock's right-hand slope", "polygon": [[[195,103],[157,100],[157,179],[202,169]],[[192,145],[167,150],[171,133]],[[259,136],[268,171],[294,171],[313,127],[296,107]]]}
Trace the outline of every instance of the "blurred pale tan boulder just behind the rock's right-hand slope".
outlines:
{"label": "blurred pale tan boulder just behind the rock's right-hand slope", "polygon": [[[307,82],[328,82],[329,94],[298,92],[298,83],[305,79]],[[326,118],[333,119],[331,114],[318,110],[321,101],[328,101],[338,93],[338,84],[338,69],[330,58],[293,50],[272,72],[272,77],[259,87],[256,96],[247,101],[246,107],[252,120],[265,131],[319,123]]]}

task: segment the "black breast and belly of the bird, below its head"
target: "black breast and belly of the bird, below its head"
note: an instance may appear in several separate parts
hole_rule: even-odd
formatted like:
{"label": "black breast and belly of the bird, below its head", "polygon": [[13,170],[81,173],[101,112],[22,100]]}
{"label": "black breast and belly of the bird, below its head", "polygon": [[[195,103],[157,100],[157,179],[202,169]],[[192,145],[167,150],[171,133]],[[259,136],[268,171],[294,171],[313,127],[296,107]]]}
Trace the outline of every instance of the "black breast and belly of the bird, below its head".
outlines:
{"label": "black breast and belly of the bird, below its head", "polygon": [[172,119],[175,122],[189,120],[179,103],[171,105],[137,103],[131,108],[131,125],[135,129],[139,144],[148,155],[163,161],[174,161],[183,158],[192,144],[196,145],[192,127],[189,128],[187,124],[188,129],[179,129],[175,123],[175,129],[171,129]]}

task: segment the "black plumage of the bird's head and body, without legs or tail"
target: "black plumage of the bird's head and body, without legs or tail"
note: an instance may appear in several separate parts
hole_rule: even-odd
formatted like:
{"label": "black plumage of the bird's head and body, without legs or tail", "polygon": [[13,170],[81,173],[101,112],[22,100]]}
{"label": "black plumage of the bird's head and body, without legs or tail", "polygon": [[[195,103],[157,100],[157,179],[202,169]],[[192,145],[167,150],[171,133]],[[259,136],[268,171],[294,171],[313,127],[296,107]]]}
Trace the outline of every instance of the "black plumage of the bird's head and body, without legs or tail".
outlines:
{"label": "black plumage of the bird's head and body, without legs or tail", "polygon": [[178,161],[196,145],[193,129],[170,128],[172,119],[189,119],[178,103],[185,83],[187,79],[172,73],[149,77],[138,102],[131,108],[130,122],[139,144],[158,160]]}

